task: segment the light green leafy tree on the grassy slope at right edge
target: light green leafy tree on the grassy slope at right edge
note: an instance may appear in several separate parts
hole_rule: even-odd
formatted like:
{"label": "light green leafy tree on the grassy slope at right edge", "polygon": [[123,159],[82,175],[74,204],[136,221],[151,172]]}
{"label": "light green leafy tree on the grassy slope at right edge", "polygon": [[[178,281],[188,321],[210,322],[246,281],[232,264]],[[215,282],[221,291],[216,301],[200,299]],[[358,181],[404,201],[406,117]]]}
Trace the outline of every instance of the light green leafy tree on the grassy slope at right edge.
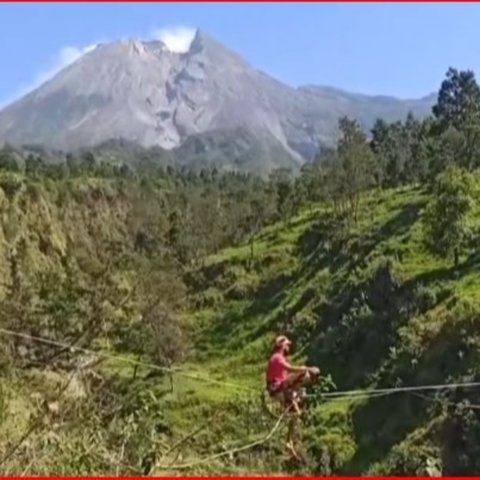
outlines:
{"label": "light green leafy tree on the grassy slope at right edge", "polygon": [[473,203],[471,174],[461,167],[448,166],[437,177],[433,195],[424,216],[426,244],[441,257],[453,255],[458,267],[467,234],[467,215]]}

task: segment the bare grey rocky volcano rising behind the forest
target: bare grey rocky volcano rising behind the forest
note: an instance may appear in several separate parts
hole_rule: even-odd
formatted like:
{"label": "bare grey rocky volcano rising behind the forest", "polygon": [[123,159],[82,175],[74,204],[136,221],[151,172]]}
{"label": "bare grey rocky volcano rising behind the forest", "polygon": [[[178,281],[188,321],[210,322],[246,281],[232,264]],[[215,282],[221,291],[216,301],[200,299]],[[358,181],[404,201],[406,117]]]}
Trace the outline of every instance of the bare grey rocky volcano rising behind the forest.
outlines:
{"label": "bare grey rocky volcano rising behind the forest", "polygon": [[197,31],[182,54],[159,41],[97,46],[0,112],[0,140],[74,149],[124,138],[171,149],[191,135],[241,127],[304,161],[332,141],[341,115],[369,128],[410,109],[423,116],[432,103],[294,89]]}

